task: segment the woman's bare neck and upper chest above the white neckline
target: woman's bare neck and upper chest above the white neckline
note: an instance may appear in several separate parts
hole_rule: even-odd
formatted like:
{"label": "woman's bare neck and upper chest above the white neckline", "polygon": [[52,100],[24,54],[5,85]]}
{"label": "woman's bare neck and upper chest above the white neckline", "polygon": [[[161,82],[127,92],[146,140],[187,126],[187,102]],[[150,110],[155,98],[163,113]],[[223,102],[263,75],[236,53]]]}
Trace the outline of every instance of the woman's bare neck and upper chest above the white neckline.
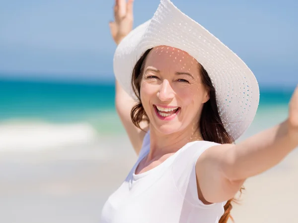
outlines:
{"label": "woman's bare neck and upper chest above the white neckline", "polygon": [[203,137],[198,129],[190,128],[171,134],[161,134],[150,125],[150,152],[148,160],[176,153],[187,143],[200,140],[203,140]]}

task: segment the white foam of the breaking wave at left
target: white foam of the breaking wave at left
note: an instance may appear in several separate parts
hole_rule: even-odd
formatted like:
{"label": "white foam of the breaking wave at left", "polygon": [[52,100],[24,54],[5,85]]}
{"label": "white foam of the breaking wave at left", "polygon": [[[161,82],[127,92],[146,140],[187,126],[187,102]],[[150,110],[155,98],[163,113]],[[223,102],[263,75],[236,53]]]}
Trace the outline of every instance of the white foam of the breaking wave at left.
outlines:
{"label": "white foam of the breaking wave at left", "polygon": [[0,151],[34,151],[86,145],[98,138],[88,123],[7,122],[0,124]]}

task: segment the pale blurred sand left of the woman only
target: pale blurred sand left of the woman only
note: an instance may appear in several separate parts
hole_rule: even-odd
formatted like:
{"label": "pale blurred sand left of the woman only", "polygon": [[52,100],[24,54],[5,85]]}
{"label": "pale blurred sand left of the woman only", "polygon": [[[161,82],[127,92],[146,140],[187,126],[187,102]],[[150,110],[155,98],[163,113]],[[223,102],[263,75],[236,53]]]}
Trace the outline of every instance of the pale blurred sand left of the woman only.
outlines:
{"label": "pale blurred sand left of the woman only", "polygon": [[86,147],[1,151],[0,222],[99,223],[105,200],[136,160],[122,138],[123,143],[99,139]]}

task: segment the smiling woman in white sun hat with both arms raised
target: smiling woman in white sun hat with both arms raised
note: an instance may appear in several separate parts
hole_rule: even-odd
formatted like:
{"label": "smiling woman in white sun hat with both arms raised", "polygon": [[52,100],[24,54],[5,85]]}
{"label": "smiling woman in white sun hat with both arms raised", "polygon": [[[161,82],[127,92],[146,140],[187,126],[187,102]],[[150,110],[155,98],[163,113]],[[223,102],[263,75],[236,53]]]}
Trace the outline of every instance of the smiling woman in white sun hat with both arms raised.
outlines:
{"label": "smiling woman in white sun hat with both arms raised", "polygon": [[298,146],[298,89],[287,120],[245,141],[259,102],[253,73],[169,0],[134,29],[116,0],[116,108],[139,158],[102,223],[226,223],[243,182]]}

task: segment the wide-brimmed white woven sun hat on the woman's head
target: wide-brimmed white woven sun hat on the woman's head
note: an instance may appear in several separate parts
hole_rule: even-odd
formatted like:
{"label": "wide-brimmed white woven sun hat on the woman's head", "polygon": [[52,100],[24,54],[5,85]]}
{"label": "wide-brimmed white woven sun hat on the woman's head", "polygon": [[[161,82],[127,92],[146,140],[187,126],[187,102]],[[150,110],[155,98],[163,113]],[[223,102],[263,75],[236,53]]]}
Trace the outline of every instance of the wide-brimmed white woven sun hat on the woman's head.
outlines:
{"label": "wide-brimmed white woven sun hat on the woman's head", "polygon": [[153,17],[130,32],[114,55],[115,77],[133,98],[134,66],[148,49],[157,46],[180,49],[202,64],[215,87],[224,127],[234,140],[238,139],[251,124],[259,105],[258,82],[247,65],[170,0],[161,0]]}

